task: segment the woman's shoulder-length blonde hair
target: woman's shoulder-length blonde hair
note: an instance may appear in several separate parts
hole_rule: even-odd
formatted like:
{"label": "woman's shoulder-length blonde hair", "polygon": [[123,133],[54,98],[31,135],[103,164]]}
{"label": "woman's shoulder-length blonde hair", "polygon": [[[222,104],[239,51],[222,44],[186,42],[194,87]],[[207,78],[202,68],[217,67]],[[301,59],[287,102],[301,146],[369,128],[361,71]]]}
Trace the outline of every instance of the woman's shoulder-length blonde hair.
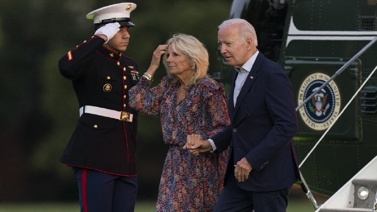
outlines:
{"label": "woman's shoulder-length blonde hair", "polygon": [[[186,34],[175,34],[170,38],[166,45],[172,46],[173,50],[181,51],[193,66],[189,86],[192,87],[198,84],[202,78],[208,77],[208,51],[204,45],[195,37]],[[167,63],[167,54],[164,54],[163,63],[166,68],[166,72],[171,79],[172,83],[178,81],[175,75],[170,74],[169,65]]]}

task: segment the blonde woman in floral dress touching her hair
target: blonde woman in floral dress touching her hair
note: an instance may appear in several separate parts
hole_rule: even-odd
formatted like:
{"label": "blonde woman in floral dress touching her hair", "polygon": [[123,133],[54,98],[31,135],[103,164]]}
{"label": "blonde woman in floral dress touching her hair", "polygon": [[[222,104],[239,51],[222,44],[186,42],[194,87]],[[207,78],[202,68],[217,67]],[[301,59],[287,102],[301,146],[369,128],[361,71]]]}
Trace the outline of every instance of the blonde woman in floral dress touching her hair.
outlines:
{"label": "blonde woman in floral dress touching her hair", "polygon": [[[161,55],[167,76],[152,89],[149,84]],[[165,143],[170,145],[161,175],[156,211],[212,211],[223,186],[227,153],[195,157],[184,146],[187,135],[204,139],[229,124],[227,96],[222,84],[207,76],[208,52],[193,36],[173,35],[153,52],[139,83],[129,91],[130,106],[160,118]]]}

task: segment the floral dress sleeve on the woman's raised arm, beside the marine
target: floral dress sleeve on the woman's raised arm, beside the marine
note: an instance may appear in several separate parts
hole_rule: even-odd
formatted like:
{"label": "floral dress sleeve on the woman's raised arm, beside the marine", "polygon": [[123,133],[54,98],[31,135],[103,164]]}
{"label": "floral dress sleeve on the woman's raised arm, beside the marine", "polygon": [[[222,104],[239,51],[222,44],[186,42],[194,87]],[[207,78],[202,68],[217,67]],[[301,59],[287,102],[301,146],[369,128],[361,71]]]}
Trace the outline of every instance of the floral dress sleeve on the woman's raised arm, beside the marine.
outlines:
{"label": "floral dress sleeve on the woman's raised arm, beside the marine", "polygon": [[149,89],[149,81],[141,77],[138,84],[129,91],[129,104],[135,110],[152,118],[159,118],[161,98],[166,91],[167,78],[162,78],[161,82],[154,88]]}

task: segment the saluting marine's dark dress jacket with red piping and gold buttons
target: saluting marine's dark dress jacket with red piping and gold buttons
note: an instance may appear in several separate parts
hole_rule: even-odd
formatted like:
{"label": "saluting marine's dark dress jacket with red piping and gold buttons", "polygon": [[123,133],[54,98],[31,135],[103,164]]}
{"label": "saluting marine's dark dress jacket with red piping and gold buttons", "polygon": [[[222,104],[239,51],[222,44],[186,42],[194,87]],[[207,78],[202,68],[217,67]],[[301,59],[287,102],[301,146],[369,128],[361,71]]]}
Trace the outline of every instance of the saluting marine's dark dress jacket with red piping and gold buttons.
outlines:
{"label": "saluting marine's dark dress jacket with red piping and gold buttons", "polygon": [[60,162],[116,175],[136,175],[138,114],[129,107],[128,91],[138,83],[132,58],[106,49],[104,39],[93,36],[59,61],[61,75],[72,80],[78,108],[86,105],[125,111],[133,121],[84,113]]}

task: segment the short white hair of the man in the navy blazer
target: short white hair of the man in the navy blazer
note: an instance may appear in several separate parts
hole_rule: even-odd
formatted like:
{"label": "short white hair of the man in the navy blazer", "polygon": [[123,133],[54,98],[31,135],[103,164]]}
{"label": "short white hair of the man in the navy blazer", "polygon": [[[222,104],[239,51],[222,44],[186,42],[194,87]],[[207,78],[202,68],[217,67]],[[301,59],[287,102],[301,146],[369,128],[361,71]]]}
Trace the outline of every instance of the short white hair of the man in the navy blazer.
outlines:
{"label": "short white hair of the man in the navy blazer", "polygon": [[[255,46],[258,46],[258,40],[257,35],[255,33],[255,29],[253,25],[251,25],[247,20],[240,19],[240,18],[234,18],[230,20],[226,20],[221,23],[221,25],[218,27],[219,29],[228,28],[231,26],[237,27],[239,31],[239,41],[244,43],[246,41],[247,37],[251,37],[251,40],[253,40],[253,43]],[[242,30],[241,30],[242,29]]]}

